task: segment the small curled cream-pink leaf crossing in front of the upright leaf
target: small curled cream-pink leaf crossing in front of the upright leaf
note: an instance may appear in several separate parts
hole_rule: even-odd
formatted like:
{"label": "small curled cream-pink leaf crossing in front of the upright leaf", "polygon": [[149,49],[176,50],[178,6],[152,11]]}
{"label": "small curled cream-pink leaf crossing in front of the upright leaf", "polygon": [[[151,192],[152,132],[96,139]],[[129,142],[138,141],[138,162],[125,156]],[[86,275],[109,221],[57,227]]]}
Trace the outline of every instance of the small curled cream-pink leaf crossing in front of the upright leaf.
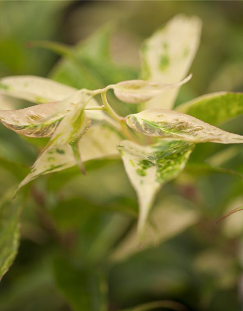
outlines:
{"label": "small curled cream-pink leaf crossing in front of the upright leaf", "polygon": [[179,87],[190,79],[191,75],[182,81],[172,84],[149,82],[145,80],[128,80],[113,85],[112,88],[120,101],[130,104],[139,104],[150,100],[158,94]]}

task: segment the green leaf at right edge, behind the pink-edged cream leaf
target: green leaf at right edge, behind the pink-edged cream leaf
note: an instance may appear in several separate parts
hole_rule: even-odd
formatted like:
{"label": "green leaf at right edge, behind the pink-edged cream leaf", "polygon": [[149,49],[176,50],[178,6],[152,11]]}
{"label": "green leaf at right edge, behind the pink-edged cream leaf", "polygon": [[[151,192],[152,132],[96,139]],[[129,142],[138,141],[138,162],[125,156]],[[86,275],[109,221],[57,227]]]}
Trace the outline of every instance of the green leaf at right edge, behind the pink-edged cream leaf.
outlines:
{"label": "green leaf at right edge, behind the pink-edged cream leaf", "polygon": [[218,92],[203,95],[176,107],[209,124],[216,125],[243,114],[243,93]]}

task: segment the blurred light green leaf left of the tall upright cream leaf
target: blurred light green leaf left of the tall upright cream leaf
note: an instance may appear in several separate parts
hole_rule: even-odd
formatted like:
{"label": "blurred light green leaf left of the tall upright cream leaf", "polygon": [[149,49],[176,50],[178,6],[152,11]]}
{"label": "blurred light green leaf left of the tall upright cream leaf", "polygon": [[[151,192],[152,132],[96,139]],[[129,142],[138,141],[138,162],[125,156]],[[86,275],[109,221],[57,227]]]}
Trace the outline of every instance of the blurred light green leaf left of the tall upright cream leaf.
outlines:
{"label": "blurred light green leaf left of the tall upright cream leaf", "polygon": [[35,42],[35,45],[65,56],[52,70],[52,79],[76,88],[102,88],[137,78],[134,69],[117,66],[110,59],[111,32],[112,27],[107,25],[74,48],[55,42]]}

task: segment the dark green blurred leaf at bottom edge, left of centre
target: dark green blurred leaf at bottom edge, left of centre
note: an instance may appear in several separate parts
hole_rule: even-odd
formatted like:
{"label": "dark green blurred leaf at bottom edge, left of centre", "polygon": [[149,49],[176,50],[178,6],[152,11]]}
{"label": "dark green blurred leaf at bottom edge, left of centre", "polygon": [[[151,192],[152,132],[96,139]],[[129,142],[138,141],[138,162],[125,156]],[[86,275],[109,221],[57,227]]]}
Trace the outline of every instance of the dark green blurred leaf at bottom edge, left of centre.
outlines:
{"label": "dark green blurred leaf at bottom edge, left of centre", "polygon": [[73,311],[105,311],[106,286],[96,269],[81,268],[58,258],[53,264],[56,285]]}

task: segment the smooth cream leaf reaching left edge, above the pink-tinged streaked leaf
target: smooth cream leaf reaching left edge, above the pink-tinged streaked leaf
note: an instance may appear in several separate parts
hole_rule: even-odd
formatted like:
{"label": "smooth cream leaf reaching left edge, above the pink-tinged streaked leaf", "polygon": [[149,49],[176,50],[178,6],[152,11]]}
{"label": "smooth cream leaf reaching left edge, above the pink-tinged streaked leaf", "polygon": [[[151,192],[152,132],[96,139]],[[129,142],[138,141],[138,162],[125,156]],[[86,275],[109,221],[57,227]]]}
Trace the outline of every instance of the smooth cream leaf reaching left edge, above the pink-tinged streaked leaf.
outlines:
{"label": "smooth cream leaf reaching left edge, above the pink-tinged streaked leaf", "polygon": [[36,76],[12,76],[0,79],[0,94],[36,104],[61,101],[76,91],[74,87]]}

